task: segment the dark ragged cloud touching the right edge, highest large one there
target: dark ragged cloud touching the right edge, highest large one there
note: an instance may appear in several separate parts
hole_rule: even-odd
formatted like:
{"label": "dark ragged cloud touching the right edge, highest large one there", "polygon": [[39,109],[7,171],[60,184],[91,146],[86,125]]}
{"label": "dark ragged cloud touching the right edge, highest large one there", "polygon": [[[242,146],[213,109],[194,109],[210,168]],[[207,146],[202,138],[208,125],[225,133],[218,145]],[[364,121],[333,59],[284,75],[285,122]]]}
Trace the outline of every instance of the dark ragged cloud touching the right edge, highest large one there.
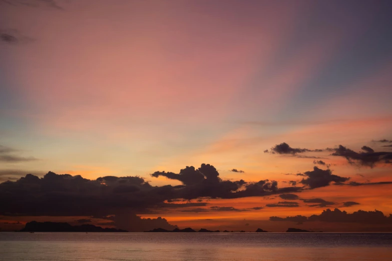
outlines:
{"label": "dark ragged cloud touching the right edge, highest large one there", "polygon": [[390,160],[392,160],[392,152],[374,152],[374,150],[370,147],[363,147],[366,147],[366,149],[364,149],[366,152],[355,152],[349,148],[339,145],[339,147],[336,148],[335,152],[333,152],[331,155],[345,157],[350,164],[358,164],[369,167],[373,167],[377,162],[388,163]]}

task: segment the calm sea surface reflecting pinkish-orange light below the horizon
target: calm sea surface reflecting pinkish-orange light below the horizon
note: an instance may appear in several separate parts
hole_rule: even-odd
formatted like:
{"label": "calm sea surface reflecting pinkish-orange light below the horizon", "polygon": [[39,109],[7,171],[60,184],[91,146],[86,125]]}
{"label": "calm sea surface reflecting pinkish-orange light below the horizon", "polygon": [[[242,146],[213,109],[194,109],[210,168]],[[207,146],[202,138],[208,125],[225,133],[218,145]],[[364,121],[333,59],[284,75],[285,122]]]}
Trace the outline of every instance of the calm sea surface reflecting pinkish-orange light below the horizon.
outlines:
{"label": "calm sea surface reflecting pinkish-orange light below the horizon", "polygon": [[392,260],[392,233],[0,233],[0,260]]}

